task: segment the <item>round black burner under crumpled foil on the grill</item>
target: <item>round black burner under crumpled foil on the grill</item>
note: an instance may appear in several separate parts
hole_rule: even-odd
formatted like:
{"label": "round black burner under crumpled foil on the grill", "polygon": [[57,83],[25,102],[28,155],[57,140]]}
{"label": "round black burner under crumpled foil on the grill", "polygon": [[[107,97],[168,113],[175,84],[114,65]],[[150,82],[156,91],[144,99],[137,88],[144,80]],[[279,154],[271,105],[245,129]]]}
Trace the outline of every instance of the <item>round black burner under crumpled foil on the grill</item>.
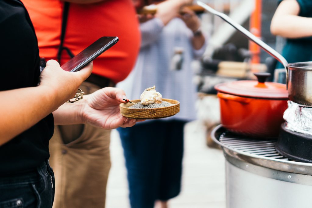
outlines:
{"label": "round black burner under crumpled foil on the grill", "polygon": [[282,124],[276,150],[292,160],[312,163],[312,136],[287,130]]}

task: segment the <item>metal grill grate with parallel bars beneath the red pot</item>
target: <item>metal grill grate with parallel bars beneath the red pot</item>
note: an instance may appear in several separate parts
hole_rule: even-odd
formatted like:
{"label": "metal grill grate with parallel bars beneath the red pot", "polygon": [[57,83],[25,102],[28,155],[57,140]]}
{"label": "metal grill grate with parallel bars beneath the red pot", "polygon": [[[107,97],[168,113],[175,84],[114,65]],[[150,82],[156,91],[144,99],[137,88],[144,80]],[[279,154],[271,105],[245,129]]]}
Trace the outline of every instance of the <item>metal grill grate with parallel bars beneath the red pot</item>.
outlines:
{"label": "metal grill grate with parallel bars beneath the red pot", "polygon": [[289,160],[288,158],[282,156],[275,149],[277,139],[255,139],[237,136],[231,133],[223,133],[220,135],[219,141],[233,149],[250,153],[253,155],[270,157],[280,160]]}

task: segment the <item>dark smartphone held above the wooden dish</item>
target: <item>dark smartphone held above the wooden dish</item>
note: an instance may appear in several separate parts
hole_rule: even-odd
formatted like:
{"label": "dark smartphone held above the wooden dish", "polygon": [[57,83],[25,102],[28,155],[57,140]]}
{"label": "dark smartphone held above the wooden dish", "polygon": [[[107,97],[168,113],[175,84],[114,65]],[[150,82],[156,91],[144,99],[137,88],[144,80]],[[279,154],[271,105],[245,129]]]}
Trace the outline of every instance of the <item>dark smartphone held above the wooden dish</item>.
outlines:
{"label": "dark smartphone held above the wooden dish", "polygon": [[100,56],[104,51],[115,45],[119,41],[118,37],[101,37],[83,51],[72,57],[61,66],[67,72],[76,72]]}

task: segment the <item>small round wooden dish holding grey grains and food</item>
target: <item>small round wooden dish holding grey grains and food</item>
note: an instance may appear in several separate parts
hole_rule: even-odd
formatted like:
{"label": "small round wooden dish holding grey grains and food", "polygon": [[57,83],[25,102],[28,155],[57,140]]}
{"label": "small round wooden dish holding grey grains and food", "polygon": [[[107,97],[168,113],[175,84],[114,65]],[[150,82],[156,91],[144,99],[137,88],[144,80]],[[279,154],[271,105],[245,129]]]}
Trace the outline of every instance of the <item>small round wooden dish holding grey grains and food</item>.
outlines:
{"label": "small round wooden dish holding grey grains and food", "polygon": [[[157,119],[166,118],[177,114],[180,111],[180,102],[177,100],[164,99],[163,101],[170,102],[174,105],[161,108],[129,108],[134,105],[132,103],[120,103],[121,115],[132,119]],[[140,100],[131,100],[133,103],[141,102]]]}

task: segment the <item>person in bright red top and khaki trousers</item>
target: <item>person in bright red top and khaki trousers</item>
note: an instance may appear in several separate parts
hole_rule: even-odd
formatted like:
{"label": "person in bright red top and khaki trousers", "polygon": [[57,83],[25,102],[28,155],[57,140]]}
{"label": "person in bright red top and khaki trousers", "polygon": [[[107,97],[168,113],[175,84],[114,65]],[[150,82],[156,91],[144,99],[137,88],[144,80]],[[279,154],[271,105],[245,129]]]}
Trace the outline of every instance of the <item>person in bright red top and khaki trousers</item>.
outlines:
{"label": "person in bright red top and khaki trousers", "polygon": [[[36,31],[40,57],[46,61],[58,58],[62,65],[71,58],[69,54],[78,54],[102,36],[119,37],[116,45],[93,61],[91,76],[80,86],[86,94],[115,86],[128,76],[140,45],[139,23],[131,0],[23,3]],[[61,42],[67,51],[59,50]],[[85,124],[56,126],[49,147],[56,175],[54,208],[105,207],[111,165],[109,144],[110,130]]]}

